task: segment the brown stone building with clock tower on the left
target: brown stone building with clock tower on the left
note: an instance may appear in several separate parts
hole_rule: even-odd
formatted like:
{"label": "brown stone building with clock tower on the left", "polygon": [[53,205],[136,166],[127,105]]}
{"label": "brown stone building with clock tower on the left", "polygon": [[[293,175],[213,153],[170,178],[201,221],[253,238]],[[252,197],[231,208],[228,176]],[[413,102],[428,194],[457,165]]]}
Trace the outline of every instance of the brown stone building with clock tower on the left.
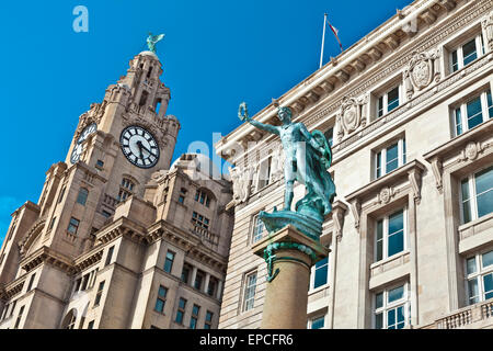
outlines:
{"label": "brown stone building with clock tower on the left", "polygon": [[142,52],[79,118],[0,251],[0,328],[217,328],[231,183],[186,154],[161,63]]}

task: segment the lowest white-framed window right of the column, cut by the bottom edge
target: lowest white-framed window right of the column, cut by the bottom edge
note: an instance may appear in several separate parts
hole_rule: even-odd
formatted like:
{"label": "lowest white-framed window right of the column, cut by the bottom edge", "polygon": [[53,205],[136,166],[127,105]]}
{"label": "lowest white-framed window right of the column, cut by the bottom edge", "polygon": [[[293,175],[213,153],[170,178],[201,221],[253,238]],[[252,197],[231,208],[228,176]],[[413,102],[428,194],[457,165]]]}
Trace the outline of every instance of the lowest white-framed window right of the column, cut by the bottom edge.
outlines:
{"label": "lowest white-framed window right of the column, cut by the bottom edge", "polygon": [[374,326],[376,329],[402,329],[409,325],[408,284],[375,294]]}

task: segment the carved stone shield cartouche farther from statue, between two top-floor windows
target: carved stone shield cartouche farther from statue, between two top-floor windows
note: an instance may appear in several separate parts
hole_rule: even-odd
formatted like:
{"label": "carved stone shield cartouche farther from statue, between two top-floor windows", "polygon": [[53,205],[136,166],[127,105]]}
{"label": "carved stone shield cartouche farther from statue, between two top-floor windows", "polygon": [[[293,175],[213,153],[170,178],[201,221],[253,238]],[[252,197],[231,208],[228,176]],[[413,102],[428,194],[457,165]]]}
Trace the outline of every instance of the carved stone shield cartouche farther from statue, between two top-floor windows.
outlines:
{"label": "carved stone shield cartouche farther from statue, between two top-floor windows", "polygon": [[415,91],[428,87],[433,80],[439,81],[439,50],[429,53],[412,54],[411,60],[404,70],[404,87],[408,99],[411,99]]}

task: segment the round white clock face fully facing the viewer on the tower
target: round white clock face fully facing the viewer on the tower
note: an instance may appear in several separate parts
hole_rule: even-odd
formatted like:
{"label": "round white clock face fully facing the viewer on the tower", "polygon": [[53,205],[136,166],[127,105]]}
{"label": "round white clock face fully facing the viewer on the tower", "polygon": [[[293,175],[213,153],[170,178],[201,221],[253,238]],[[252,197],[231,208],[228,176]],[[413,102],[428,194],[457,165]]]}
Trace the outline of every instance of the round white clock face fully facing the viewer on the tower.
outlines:
{"label": "round white clock face fully facing the viewer on the tower", "polygon": [[159,146],[152,134],[142,127],[126,127],[119,137],[127,160],[140,168],[151,168],[159,160]]}

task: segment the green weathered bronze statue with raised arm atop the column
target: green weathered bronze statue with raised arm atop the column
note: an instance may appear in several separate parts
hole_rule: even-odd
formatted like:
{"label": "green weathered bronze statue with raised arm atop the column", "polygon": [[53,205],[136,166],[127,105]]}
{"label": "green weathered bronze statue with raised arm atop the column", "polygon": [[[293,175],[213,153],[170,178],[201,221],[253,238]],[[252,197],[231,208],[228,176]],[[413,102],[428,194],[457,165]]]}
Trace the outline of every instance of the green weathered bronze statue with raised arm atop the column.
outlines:
{"label": "green weathered bronze statue with raised arm atop the column", "polygon": [[[252,120],[244,102],[238,111],[240,120],[278,135],[286,156],[284,208],[277,211],[274,207],[271,214],[261,212],[259,217],[270,233],[291,224],[299,231],[319,241],[324,216],[332,211],[335,196],[335,185],[328,172],[332,162],[332,149],[322,132],[308,132],[305,124],[291,122],[293,113],[289,107],[279,107],[277,102],[274,102],[274,105],[278,109],[277,116],[282,122],[279,126]],[[296,203],[296,212],[293,212],[295,181],[305,184],[307,194]]]}

